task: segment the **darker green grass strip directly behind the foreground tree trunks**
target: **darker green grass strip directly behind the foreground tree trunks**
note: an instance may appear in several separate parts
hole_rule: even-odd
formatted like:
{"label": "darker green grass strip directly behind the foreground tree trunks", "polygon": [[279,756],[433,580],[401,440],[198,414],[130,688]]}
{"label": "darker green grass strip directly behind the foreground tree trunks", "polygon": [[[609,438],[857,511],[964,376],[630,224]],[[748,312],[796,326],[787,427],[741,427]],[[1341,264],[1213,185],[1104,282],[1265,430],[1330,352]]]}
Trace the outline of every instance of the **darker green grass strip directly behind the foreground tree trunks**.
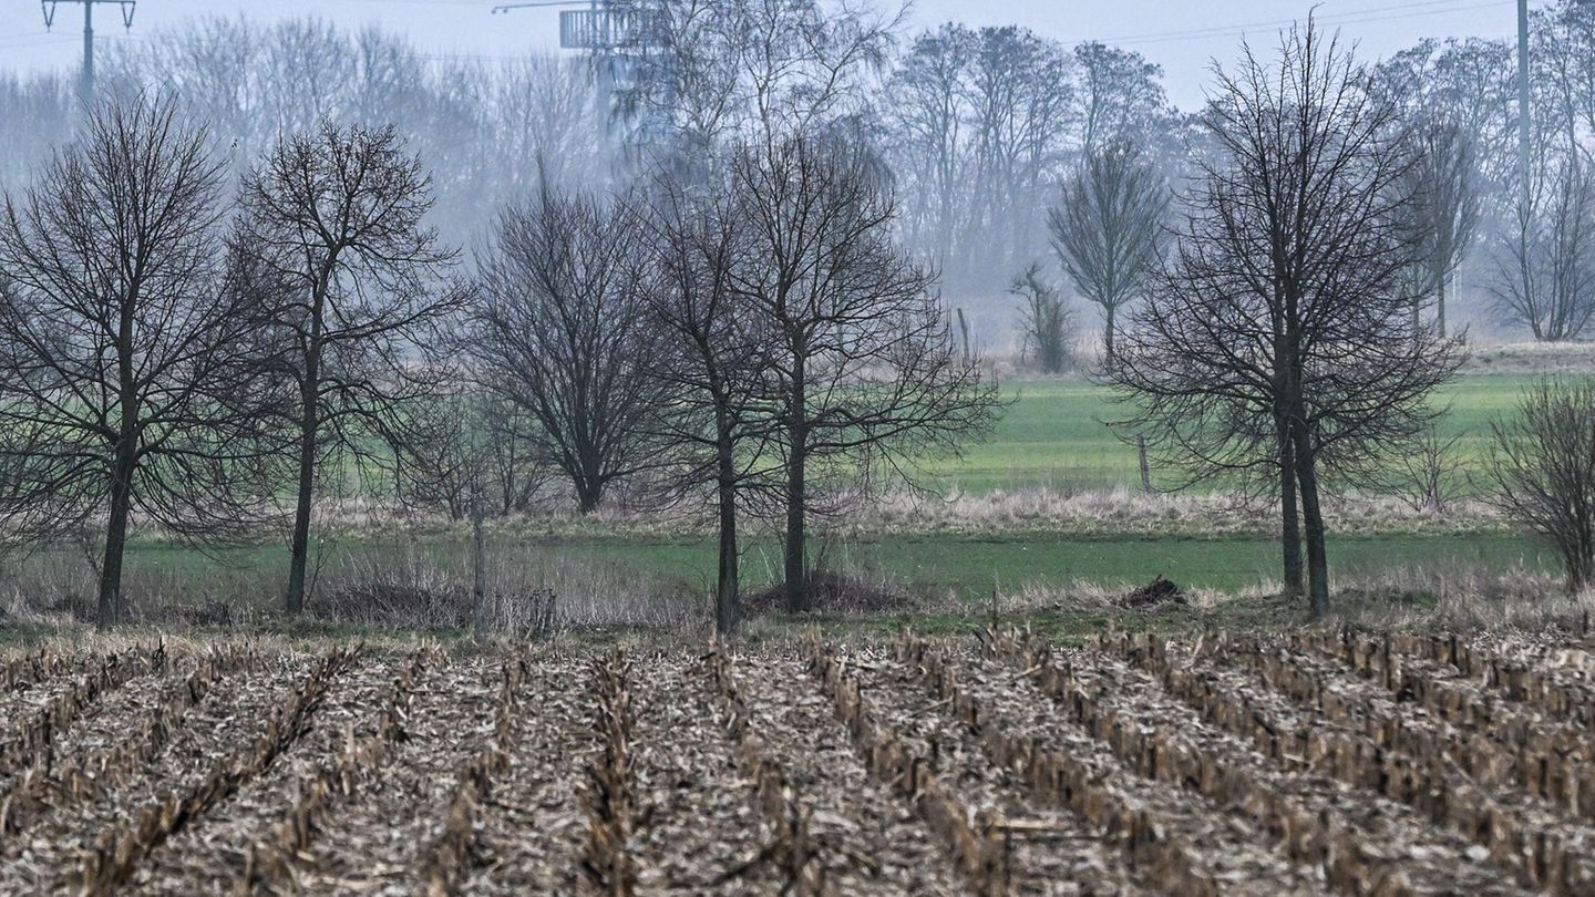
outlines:
{"label": "darker green grass strip directly behind the foreground tree trunks", "polygon": [[[1555,571],[1557,559],[1544,546],[1509,533],[1455,536],[1388,535],[1337,536],[1329,543],[1338,581],[1376,579],[1397,570],[1420,570],[1429,578],[1467,571],[1525,568]],[[464,581],[469,544],[459,535],[429,536],[407,544],[351,541],[325,559],[327,581],[381,568],[419,571],[419,579]],[[1163,575],[1185,587],[1236,592],[1279,579],[1279,546],[1265,536],[1246,538],[1073,538],[1016,535],[970,539],[960,536],[892,535],[842,541],[820,536],[813,560],[930,597],[981,602],[992,589],[1067,591],[1080,583],[1128,589]],[[62,554],[64,565],[78,559]],[[276,546],[239,547],[203,555],[177,546],[137,547],[129,557],[129,589],[180,589],[195,600],[241,600],[271,607],[281,591],[286,551]],[[703,539],[494,539],[491,568],[512,567],[517,579],[561,583],[565,589],[644,589],[708,594],[715,575],[715,546]],[[531,571],[530,576],[526,571]],[[573,573],[574,571],[574,573]],[[750,592],[778,581],[780,549],[756,539],[743,554],[743,583]],[[86,583],[85,583],[86,586]],[[185,587],[187,586],[187,587]],[[153,595],[145,595],[145,599]]]}

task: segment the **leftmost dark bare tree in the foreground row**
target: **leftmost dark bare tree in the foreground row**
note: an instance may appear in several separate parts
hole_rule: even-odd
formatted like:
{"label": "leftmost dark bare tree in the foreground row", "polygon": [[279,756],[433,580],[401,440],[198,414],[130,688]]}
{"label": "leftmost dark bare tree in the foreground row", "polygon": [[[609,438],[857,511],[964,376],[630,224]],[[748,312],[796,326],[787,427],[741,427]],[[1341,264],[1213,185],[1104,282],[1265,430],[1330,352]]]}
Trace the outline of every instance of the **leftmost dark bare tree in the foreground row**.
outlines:
{"label": "leftmost dark bare tree in the foreground row", "polygon": [[262,318],[222,278],[203,129],[171,104],[94,110],[0,220],[0,517],[78,533],[104,516],[100,627],[140,520],[206,538],[270,516],[274,394]]}

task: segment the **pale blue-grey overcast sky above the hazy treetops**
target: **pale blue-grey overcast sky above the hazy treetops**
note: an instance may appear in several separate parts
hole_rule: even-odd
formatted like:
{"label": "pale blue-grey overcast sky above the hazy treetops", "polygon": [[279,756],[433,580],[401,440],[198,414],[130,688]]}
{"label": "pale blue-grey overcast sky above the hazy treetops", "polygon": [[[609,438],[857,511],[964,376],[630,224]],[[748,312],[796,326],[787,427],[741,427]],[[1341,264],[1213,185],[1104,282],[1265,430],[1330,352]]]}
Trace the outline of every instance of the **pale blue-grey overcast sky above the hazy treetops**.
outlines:
{"label": "pale blue-grey overcast sky above the hazy treetops", "polygon": [[[952,19],[1021,24],[1067,43],[1094,38],[1132,48],[1163,65],[1177,105],[1195,109],[1211,59],[1233,59],[1243,35],[1273,41],[1281,26],[1313,6],[1311,0],[917,0],[911,30]],[[1509,37],[1517,27],[1515,0],[1319,0],[1316,6],[1321,21],[1340,27],[1370,57],[1424,37]],[[491,8],[491,0],[140,0],[131,32],[123,30],[115,5],[97,5],[96,35],[99,41],[152,40],[183,19],[215,13],[380,24],[437,56],[496,59],[558,43],[557,10],[490,14]],[[80,3],[62,2],[54,30],[46,32],[33,0],[0,0],[0,69],[78,65],[81,27]]]}

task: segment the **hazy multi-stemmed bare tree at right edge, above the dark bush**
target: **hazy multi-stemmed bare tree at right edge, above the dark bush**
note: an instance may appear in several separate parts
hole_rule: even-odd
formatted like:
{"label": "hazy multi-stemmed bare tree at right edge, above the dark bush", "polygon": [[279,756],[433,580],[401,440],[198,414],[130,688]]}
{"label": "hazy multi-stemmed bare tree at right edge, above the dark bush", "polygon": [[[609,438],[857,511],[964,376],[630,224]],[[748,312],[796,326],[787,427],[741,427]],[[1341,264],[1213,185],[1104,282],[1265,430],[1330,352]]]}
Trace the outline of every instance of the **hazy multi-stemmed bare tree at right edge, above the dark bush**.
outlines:
{"label": "hazy multi-stemmed bare tree at right edge, above the dark bush", "polygon": [[1536,340],[1576,340],[1595,318],[1595,174],[1563,160],[1512,207],[1490,290]]}

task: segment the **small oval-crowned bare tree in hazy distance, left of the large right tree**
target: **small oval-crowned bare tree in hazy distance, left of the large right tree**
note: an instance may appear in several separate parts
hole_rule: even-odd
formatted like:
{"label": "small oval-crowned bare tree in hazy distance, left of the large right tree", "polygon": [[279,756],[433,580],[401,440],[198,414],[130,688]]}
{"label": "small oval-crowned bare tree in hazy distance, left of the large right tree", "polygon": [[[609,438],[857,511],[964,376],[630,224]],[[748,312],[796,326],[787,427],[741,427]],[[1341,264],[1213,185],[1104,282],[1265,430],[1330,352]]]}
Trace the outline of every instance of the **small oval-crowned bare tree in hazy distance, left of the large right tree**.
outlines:
{"label": "small oval-crowned bare tree in hazy distance, left of the large right tree", "polygon": [[1105,366],[1113,367],[1118,314],[1158,263],[1169,192],[1140,153],[1112,142],[1086,156],[1048,212],[1053,249],[1075,287],[1102,306]]}

